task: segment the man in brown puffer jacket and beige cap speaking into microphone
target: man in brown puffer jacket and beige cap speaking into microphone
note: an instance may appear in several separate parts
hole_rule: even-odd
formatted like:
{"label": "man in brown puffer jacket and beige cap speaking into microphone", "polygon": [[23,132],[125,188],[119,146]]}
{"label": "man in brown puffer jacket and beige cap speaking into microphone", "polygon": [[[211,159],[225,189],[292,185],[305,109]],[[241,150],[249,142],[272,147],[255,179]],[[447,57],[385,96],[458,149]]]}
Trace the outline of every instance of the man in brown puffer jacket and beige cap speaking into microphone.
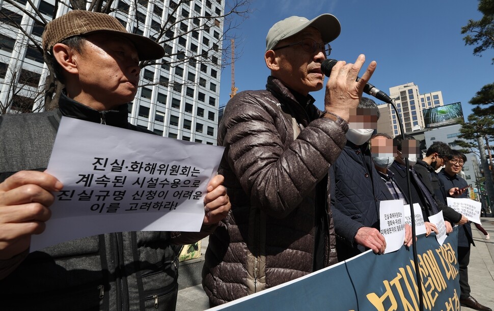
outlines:
{"label": "man in brown puffer jacket and beige cap speaking into microphone", "polygon": [[338,62],[326,85],[325,109],[309,92],[321,90],[321,62],[340,34],[331,14],[292,16],[266,37],[266,90],[228,103],[218,130],[232,209],[209,238],[203,287],[211,306],[259,292],[337,262],[328,204],[328,167],[345,146],[349,109],[359,104],[372,62]]}

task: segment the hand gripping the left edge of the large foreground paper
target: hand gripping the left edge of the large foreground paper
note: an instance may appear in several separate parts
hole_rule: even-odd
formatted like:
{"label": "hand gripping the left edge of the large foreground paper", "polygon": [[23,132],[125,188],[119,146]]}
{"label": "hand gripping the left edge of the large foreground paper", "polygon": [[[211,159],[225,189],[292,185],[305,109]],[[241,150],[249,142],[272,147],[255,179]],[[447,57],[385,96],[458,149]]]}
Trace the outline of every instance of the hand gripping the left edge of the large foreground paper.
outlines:
{"label": "hand gripping the left edge of the large foreground paper", "polygon": [[0,183],[0,260],[28,249],[31,235],[45,230],[54,201],[50,191],[62,187],[53,176],[35,171],[17,172]]}

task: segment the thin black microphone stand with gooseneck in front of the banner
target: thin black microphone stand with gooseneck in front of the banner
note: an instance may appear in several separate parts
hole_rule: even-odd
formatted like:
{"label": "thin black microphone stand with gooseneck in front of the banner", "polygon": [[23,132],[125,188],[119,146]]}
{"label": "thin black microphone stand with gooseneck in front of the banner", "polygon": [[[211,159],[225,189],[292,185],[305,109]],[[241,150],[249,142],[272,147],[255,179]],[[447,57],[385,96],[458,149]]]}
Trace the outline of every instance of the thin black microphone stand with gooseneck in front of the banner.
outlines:
{"label": "thin black microphone stand with gooseneck in front of the banner", "polygon": [[[390,104],[393,109],[395,110],[396,114],[396,119],[398,119],[398,125],[400,127],[401,131],[401,141],[404,142],[405,140],[405,131],[403,130],[403,123],[401,122],[400,115],[398,113],[398,109],[396,108],[395,103],[393,100],[387,100],[386,101],[388,104]],[[403,143],[402,143],[403,144]],[[405,158],[405,173],[406,173],[406,185],[407,185],[407,192],[408,192],[408,198],[409,198],[409,206],[410,206],[410,215],[411,215],[411,249],[414,255],[414,264],[415,264],[415,271],[416,271],[416,277],[417,277],[417,288],[418,288],[418,295],[419,295],[419,310],[424,310],[424,299],[422,295],[422,282],[421,282],[421,277],[420,277],[420,270],[419,270],[419,260],[417,256],[417,246],[416,246],[416,232],[415,232],[415,212],[414,212],[414,204],[411,200],[411,188],[410,188],[410,167],[408,163],[408,157]]]}

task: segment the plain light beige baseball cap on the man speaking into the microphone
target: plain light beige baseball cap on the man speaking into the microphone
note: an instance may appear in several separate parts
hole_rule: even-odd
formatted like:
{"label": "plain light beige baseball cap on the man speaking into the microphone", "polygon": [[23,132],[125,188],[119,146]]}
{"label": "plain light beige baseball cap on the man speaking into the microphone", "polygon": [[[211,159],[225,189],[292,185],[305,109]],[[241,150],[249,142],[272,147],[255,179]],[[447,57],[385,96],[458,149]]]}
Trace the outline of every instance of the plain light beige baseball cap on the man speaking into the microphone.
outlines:
{"label": "plain light beige baseball cap on the man speaking into the microphone", "polygon": [[274,48],[278,42],[298,34],[307,27],[315,27],[322,41],[329,43],[340,35],[340,21],[332,14],[321,14],[312,20],[305,17],[290,16],[274,24],[266,36],[266,51]]}

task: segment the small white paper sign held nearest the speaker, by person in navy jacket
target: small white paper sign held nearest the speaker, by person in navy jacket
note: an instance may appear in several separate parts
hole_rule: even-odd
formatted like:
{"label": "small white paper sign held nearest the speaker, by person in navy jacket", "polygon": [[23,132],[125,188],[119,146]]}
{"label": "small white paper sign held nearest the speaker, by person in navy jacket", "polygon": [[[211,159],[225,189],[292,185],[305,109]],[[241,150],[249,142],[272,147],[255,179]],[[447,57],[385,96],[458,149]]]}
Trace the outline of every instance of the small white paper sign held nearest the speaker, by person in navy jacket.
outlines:
{"label": "small white paper sign held nearest the speaker, by person in navy jacket", "polygon": [[384,253],[400,249],[405,240],[403,200],[379,202],[379,224],[381,234],[386,239]]}

